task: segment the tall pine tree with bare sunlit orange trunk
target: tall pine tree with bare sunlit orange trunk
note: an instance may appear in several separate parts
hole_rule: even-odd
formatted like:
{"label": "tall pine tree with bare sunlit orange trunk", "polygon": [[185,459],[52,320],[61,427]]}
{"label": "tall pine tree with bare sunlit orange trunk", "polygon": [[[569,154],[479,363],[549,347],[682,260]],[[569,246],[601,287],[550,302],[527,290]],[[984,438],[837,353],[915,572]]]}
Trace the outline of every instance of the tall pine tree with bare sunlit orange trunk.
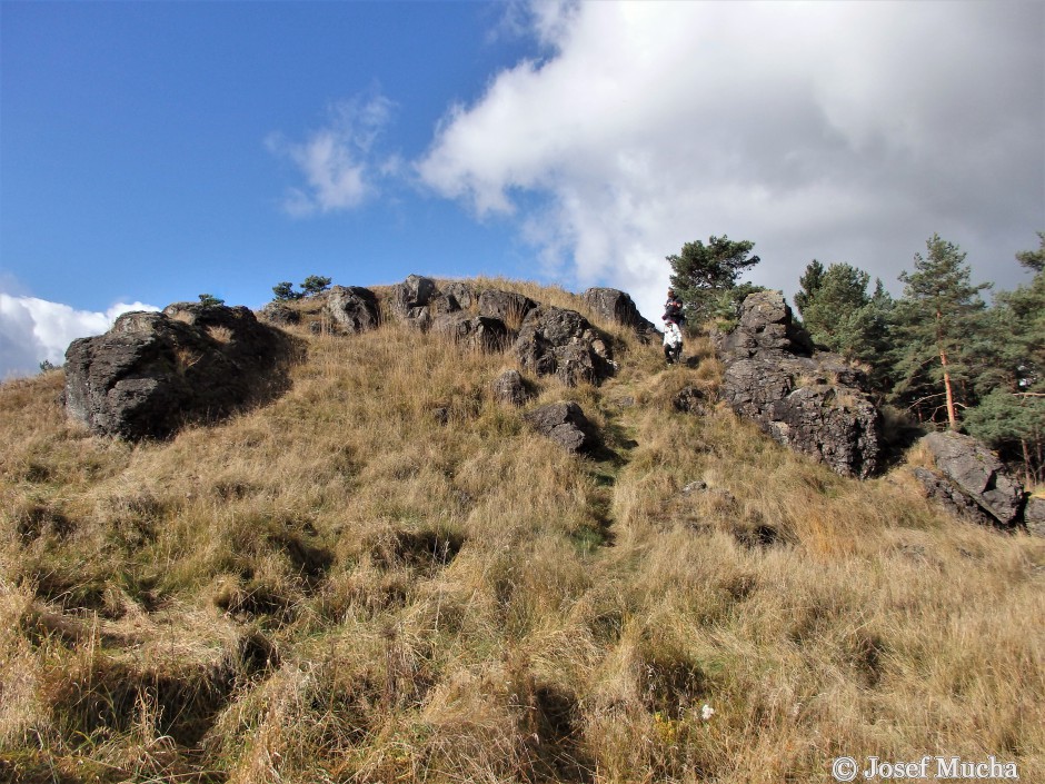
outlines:
{"label": "tall pine tree with bare sunlit orange trunk", "polygon": [[[974,285],[965,254],[957,245],[939,235],[926,242],[927,255],[915,254],[914,271],[904,271],[904,296],[896,304],[897,349],[895,370],[898,377],[894,394],[904,401],[936,388],[942,391],[918,397],[909,408],[919,413],[943,408],[952,429],[958,426],[956,408],[971,398],[971,337],[982,329],[985,304],[979,292],[991,284]],[[944,398],[944,405],[930,400]]]}

